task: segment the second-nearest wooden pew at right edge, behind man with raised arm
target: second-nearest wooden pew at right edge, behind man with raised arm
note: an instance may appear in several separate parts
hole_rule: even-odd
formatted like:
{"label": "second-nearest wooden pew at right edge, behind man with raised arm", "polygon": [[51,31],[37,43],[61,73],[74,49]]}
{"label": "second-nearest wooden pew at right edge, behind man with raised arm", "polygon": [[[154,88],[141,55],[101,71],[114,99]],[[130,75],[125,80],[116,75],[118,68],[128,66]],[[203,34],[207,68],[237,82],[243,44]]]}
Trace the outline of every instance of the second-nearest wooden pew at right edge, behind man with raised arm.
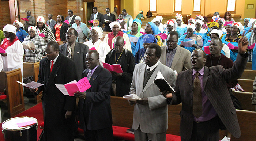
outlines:
{"label": "second-nearest wooden pew at right edge, behind man with raised arm", "polygon": [[242,110],[254,111],[255,105],[252,105],[252,92],[238,92],[232,91],[234,96],[241,103]]}

